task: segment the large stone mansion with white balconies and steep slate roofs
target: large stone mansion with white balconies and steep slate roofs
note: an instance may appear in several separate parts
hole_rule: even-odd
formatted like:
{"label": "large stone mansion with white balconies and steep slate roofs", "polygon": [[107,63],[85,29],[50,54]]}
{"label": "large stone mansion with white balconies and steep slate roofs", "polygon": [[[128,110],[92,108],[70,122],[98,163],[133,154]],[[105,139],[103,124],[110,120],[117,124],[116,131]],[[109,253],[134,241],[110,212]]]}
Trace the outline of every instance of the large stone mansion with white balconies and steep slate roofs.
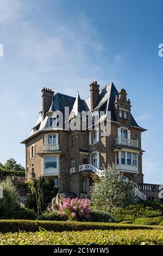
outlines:
{"label": "large stone mansion with white balconies and steep slate roofs", "polygon": [[[90,84],[90,96],[86,100],[54,93],[42,89],[42,109],[40,117],[22,142],[26,144],[26,178],[54,176],[54,184],[59,192],[73,192],[77,196],[92,191],[90,173],[99,177],[104,175],[102,165],[115,163],[117,170],[123,172],[124,179],[137,183],[137,196],[141,199],[158,199],[158,185],[143,184],[141,132],[130,112],[130,100],[125,89],[117,91],[113,83],[101,90],[95,81]],[[65,107],[68,107],[66,118]],[[88,117],[92,115],[91,130]],[[103,112],[104,123],[110,122],[109,136],[102,136],[101,129],[95,126]],[[106,118],[110,113],[110,120]],[[58,113],[64,117],[63,126],[58,126]],[[67,129],[74,118],[85,122],[86,129]]]}

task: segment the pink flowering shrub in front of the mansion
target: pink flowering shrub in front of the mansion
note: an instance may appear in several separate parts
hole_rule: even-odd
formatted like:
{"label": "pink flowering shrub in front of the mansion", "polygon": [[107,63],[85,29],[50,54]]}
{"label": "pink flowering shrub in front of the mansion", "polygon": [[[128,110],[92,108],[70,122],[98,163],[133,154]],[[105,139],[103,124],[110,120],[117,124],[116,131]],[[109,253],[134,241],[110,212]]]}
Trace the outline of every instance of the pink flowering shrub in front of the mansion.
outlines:
{"label": "pink flowering shrub in front of the mansion", "polygon": [[59,205],[59,212],[63,216],[65,215],[71,220],[76,221],[90,221],[91,209],[89,208],[89,199],[62,199],[62,203]]}

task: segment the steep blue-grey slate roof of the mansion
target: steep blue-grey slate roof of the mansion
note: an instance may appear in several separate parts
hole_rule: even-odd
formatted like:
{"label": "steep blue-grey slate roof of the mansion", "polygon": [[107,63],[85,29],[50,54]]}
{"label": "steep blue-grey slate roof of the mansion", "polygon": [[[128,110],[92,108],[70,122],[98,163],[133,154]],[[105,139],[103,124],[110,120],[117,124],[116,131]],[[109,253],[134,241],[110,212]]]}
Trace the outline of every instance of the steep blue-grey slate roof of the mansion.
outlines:
{"label": "steep blue-grey slate roof of the mansion", "polygon": [[[110,84],[108,84],[108,86],[105,86],[99,91],[99,99],[93,111],[96,111],[97,109],[98,111],[104,111],[104,113],[106,113],[106,111],[111,111],[111,121],[117,121],[114,114],[114,102],[115,102],[115,97],[117,95],[118,95],[118,91],[114,86],[114,83],[111,82]],[[79,93],[77,94],[77,97],[72,97],[69,95],[61,94],[61,93],[55,93],[53,96],[52,105],[49,109],[49,112],[60,111],[62,112],[63,118],[65,120],[65,112],[64,112],[65,107],[69,107],[69,115],[72,111],[75,114],[77,112],[82,113],[82,111],[91,111],[91,97],[88,97],[86,100],[82,100],[80,99]],[[39,119],[36,121],[36,124],[35,124],[35,126],[37,124],[40,124],[39,131],[45,129],[47,120],[48,120],[48,117],[46,117],[42,121],[42,117],[40,115]],[[130,124],[131,126],[145,130],[136,123],[133,115],[131,115]],[[33,134],[34,134],[34,131],[32,130],[32,132],[30,132],[29,137],[32,136]]]}

